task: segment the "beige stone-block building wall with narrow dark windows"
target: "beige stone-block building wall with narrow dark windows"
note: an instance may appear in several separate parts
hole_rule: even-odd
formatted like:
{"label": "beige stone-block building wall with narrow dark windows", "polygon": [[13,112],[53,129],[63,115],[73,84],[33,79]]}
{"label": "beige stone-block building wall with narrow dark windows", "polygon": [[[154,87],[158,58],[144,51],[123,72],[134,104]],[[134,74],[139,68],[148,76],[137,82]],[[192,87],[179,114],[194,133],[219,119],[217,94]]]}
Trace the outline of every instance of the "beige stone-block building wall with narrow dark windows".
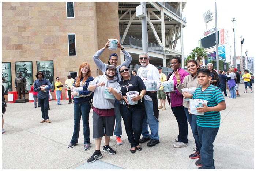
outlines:
{"label": "beige stone-block building wall with narrow dark windows", "polygon": [[[109,38],[119,39],[118,3],[74,2],[74,11],[67,19],[65,2],[2,2],[2,62],[11,62],[13,90],[15,61],[33,61],[35,75],[36,61],[53,60],[62,83],[84,61],[98,75],[92,56]],[[76,34],[76,57],[68,56],[67,33]],[[106,49],[102,61],[111,53],[120,55]]]}

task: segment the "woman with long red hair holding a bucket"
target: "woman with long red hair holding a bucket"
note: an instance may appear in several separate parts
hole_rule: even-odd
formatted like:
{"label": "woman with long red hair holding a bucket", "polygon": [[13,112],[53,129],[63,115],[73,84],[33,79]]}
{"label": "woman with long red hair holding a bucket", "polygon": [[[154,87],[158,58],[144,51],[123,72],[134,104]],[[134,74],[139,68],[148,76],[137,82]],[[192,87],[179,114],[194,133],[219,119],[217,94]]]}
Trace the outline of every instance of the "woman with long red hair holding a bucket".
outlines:
{"label": "woman with long red hair holding a bucket", "polygon": [[[80,120],[83,119],[83,135],[84,135],[84,150],[90,149],[90,128],[89,128],[89,113],[91,110],[91,99],[93,99],[93,93],[88,91],[88,85],[90,81],[93,81],[93,77],[90,72],[90,65],[83,62],[78,71],[78,76],[75,78],[74,84],[70,87],[71,94],[74,99],[74,132],[68,148],[74,147],[78,143]],[[74,88],[82,87],[83,90],[75,91]],[[75,98],[74,96],[79,96]]]}

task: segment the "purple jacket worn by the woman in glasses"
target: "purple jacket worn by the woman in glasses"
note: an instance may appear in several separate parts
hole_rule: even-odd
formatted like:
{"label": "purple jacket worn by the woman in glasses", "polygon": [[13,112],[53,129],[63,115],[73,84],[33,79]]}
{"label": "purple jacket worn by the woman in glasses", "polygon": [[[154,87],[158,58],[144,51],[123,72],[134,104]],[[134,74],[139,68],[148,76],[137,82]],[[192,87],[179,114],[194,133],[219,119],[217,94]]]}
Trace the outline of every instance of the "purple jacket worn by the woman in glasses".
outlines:
{"label": "purple jacket worn by the woman in glasses", "polygon": [[[182,69],[181,67],[178,69],[178,72],[180,73],[180,82],[182,84],[184,77],[189,75],[189,73],[187,71],[185,71],[184,69]],[[174,74],[174,71],[172,73],[170,73],[169,75],[167,75],[167,81],[169,80],[169,78],[172,74]],[[183,95],[176,88],[176,85],[177,85],[176,77],[173,76],[172,80],[174,83],[174,90],[176,91],[176,93],[170,93],[170,96],[171,96],[170,98],[167,95],[167,100],[168,100],[169,104],[171,104],[171,107],[182,106]]]}

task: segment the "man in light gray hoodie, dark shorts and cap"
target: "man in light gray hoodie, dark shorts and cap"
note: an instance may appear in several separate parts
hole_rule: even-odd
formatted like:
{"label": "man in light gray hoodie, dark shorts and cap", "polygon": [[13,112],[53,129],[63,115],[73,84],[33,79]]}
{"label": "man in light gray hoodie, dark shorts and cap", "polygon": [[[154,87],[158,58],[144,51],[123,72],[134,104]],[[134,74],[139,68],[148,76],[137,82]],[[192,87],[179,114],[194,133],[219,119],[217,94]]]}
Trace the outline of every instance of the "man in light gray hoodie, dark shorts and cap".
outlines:
{"label": "man in light gray hoodie, dark shorts and cap", "polygon": [[[122,98],[120,84],[116,81],[116,70],[114,65],[106,67],[103,75],[97,76],[89,83],[88,90],[94,91],[93,95],[93,138],[95,139],[95,152],[87,160],[93,163],[102,158],[100,152],[101,139],[105,137],[105,146],[103,151],[109,154],[116,154],[116,151],[109,146],[110,136],[113,136],[115,125],[115,99],[118,101]],[[113,97],[105,97],[105,94],[111,93]]]}

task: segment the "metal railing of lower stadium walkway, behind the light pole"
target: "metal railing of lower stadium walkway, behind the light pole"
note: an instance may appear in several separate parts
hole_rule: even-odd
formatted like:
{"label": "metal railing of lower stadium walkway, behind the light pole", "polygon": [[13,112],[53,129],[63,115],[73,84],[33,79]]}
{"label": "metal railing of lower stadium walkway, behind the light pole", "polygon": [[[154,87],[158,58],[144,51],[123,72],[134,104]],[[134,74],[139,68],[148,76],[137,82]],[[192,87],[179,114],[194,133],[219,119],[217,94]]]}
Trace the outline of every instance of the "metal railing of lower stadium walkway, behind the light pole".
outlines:
{"label": "metal railing of lower stadium walkway, behind the light pole", "polygon": [[[123,37],[124,36],[120,36],[120,41],[123,39]],[[142,48],[142,40],[132,36],[125,36],[122,45],[133,45]],[[163,46],[151,42],[148,42],[148,50],[164,52]]]}

